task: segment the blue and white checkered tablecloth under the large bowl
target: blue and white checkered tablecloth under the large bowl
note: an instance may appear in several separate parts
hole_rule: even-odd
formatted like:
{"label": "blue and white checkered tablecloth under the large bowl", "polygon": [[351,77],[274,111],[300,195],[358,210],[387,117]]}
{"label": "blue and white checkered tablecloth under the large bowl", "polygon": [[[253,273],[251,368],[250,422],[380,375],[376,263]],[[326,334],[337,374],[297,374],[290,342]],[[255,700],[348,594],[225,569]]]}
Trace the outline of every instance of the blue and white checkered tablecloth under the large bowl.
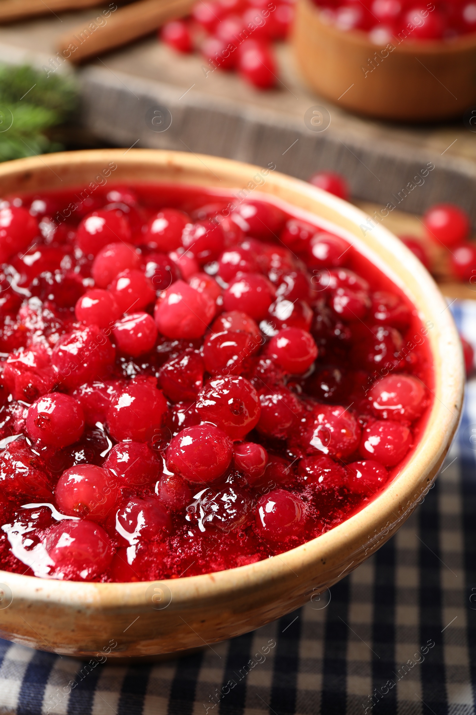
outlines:
{"label": "blue and white checkered tablecloth under the large bowl", "polygon": [[[476,302],[451,309],[476,347]],[[81,661],[0,641],[0,713],[475,715],[475,460],[476,379],[424,503],[322,601],[193,656],[82,678]]]}

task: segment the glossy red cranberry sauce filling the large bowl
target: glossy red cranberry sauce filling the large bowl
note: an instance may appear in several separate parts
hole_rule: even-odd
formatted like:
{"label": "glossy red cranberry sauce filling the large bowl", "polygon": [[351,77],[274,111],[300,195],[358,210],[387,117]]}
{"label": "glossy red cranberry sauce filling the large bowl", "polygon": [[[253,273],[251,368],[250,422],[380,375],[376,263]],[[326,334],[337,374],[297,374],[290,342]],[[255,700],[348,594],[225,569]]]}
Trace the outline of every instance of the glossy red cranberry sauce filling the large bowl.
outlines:
{"label": "glossy red cranberry sauce filling the large bowl", "polygon": [[79,188],[7,197],[0,250],[7,571],[254,563],[359,511],[417,443],[432,326],[317,217]]}

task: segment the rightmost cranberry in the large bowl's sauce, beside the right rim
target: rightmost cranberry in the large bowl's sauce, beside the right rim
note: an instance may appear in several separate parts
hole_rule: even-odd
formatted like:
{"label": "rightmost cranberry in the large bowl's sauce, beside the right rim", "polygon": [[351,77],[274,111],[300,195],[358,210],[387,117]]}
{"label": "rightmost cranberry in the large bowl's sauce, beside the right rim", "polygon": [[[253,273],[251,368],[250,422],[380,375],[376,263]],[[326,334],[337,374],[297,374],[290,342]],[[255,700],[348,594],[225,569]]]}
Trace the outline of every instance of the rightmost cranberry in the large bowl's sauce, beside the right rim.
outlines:
{"label": "rightmost cranberry in the large bowl's sauce, beside the right rim", "polygon": [[427,405],[425,392],[425,386],[412,375],[388,375],[373,385],[368,399],[379,420],[412,422]]}

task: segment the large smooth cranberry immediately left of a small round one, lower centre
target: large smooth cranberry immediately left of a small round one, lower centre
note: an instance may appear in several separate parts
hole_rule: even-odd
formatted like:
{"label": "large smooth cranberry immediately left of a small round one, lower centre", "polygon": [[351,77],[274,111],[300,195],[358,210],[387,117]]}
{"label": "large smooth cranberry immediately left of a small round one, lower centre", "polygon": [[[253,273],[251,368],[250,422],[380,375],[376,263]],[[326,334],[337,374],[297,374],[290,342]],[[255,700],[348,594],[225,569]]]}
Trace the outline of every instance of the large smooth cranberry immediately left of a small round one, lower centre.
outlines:
{"label": "large smooth cranberry immediately left of a small round one, lower centre", "polygon": [[220,477],[233,455],[231,439],[215,425],[196,425],[182,430],[167,449],[167,468],[192,484],[206,484]]}

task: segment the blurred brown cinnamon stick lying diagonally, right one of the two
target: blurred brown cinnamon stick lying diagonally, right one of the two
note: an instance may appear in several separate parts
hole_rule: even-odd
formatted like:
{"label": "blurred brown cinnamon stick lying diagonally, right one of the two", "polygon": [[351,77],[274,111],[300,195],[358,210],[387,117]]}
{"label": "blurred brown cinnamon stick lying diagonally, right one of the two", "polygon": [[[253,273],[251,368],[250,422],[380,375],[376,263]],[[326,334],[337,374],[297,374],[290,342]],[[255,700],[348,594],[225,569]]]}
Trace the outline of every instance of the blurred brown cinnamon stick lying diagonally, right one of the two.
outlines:
{"label": "blurred brown cinnamon stick lying diagonally, right one of the two", "polygon": [[139,0],[110,13],[104,24],[86,21],[59,38],[59,54],[75,64],[121,46],[187,15],[193,0]]}

